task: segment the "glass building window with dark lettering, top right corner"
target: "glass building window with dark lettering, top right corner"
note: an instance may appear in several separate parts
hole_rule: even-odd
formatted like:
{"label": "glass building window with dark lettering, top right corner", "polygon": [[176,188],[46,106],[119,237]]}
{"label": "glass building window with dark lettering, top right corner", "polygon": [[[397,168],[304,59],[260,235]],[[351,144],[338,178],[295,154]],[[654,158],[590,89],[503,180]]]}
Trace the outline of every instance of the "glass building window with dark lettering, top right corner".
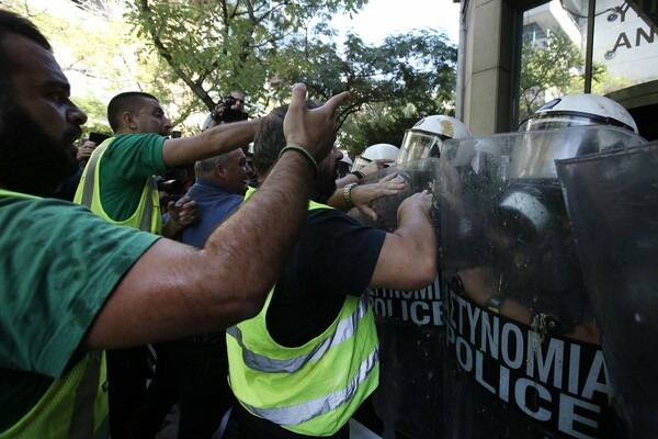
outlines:
{"label": "glass building window with dark lettering, top right corner", "polygon": [[[590,1],[593,38],[588,42]],[[553,0],[523,11],[522,23],[517,124],[563,94],[605,95],[658,80],[658,29],[636,2]],[[586,78],[588,44],[590,78]]]}

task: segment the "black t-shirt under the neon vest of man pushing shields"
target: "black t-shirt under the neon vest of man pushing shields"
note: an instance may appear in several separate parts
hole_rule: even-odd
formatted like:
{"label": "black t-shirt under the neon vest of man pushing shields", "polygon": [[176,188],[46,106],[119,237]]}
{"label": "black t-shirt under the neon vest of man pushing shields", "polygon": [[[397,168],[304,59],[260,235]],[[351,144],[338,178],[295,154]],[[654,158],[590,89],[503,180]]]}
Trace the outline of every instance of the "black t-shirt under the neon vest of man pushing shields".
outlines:
{"label": "black t-shirt under the neon vest of man pushing shields", "polygon": [[294,347],[321,334],[345,295],[364,293],[385,237],[340,211],[309,211],[268,309],[274,340]]}

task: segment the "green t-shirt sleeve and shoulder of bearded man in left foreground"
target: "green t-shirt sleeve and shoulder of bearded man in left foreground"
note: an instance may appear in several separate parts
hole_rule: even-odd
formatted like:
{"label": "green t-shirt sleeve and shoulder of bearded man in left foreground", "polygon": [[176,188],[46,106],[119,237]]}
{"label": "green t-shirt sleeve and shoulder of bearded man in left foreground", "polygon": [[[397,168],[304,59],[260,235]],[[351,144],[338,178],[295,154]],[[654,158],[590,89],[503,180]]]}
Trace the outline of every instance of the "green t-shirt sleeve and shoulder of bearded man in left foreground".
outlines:
{"label": "green t-shirt sleeve and shoulder of bearded man in left foreground", "polygon": [[2,193],[0,224],[2,431],[80,358],[106,297],[158,236],[77,204]]}

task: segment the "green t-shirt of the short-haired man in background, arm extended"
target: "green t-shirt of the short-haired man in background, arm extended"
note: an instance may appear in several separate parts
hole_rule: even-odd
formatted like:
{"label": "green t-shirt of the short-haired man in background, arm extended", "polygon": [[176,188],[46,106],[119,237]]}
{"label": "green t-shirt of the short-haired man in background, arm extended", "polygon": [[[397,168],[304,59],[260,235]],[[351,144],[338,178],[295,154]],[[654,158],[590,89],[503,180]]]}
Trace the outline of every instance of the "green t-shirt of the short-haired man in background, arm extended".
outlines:
{"label": "green t-shirt of the short-haired man in background, arm extended", "polygon": [[117,134],[100,160],[101,200],[115,221],[129,218],[146,179],[167,171],[162,157],[166,137],[157,134]]}

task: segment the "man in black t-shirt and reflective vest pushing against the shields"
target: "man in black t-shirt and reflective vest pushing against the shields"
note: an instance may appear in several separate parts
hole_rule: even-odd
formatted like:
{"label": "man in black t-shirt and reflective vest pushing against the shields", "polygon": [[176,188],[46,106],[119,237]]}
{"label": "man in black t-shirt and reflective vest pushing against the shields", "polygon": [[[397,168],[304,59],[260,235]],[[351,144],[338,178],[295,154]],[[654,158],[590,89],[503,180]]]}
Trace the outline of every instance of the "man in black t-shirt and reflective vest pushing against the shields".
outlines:
{"label": "man in black t-shirt and reflective vest pushing against the shields", "polygon": [[[259,175],[271,176],[287,150],[285,114],[285,106],[274,110],[259,125]],[[319,165],[316,196],[334,193],[341,157],[334,147]],[[259,191],[248,189],[247,200]],[[349,189],[344,195],[349,202]],[[365,288],[415,290],[433,281],[431,204],[427,191],[409,196],[399,206],[398,228],[386,233],[309,203],[302,237],[265,306],[227,329],[229,381],[239,402],[231,418],[241,439],[349,437],[349,419],[378,383],[377,336]]]}

